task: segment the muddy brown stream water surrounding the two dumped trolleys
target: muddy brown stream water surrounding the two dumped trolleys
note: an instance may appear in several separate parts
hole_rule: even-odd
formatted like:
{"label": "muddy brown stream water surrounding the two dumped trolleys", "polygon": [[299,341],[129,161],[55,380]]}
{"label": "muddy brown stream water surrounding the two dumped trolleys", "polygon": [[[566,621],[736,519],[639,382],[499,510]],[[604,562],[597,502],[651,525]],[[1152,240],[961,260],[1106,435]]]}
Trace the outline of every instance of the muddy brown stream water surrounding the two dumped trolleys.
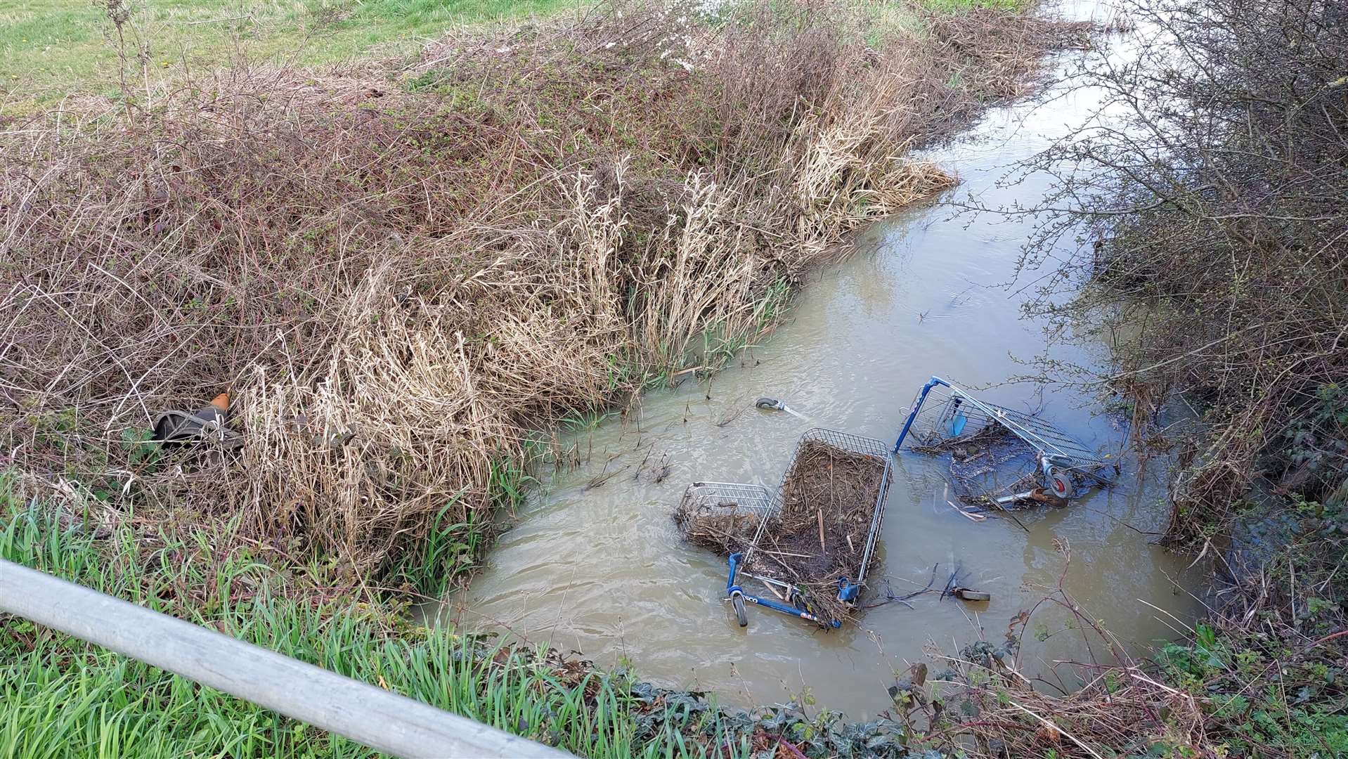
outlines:
{"label": "muddy brown stream water surrounding the two dumped trolleys", "polygon": [[[1194,616],[1186,588],[1198,580],[1185,577],[1192,558],[1167,554],[1144,534],[1165,523],[1162,468],[1139,473],[1128,458],[1119,485],[1068,508],[975,523],[948,504],[942,462],[903,453],[863,600],[919,589],[933,566],[936,586],[958,566],[962,584],[992,600],[968,604],[929,593],[913,599],[913,608],[890,603],[828,632],[755,607],[740,628],[723,600],[725,559],[686,545],[670,516],[692,481],[775,485],[797,439],[814,426],[892,444],[914,392],[933,373],[965,386],[1022,373],[1015,357],[1045,351],[1041,325],[1020,318],[1014,290],[988,286],[1011,276],[1031,220],[952,218],[941,201],[973,194],[993,206],[1034,202],[1047,189],[1045,177],[1011,187],[998,178],[1080,123],[1095,102],[1091,92],[1057,93],[1047,102],[992,111],[964,139],[929,155],[958,173],[957,189],[868,228],[859,252],[816,272],[785,324],[731,368],[710,382],[650,392],[625,419],[568,435],[585,462],[541,477],[487,569],[441,617],[504,628],[601,666],[631,663],[644,679],[710,690],[723,702],[807,694],[852,719],[887,709],[886,688],[910,662],[954,654],[980,638],[1000,643],[1008,623],[1060,577],[1084,612],[1127,647],[1174,638]],[[1080,346],[1057,355],[1099,360]],[[806,418],[758,410],[759,396],[783,399]],[[1089,398],[1068,391],[1003,386],[985,396],[1018,408],[1042,402],[1049,419],[1105,450],[1117,450],[1124,435]],[[656,481],[654,470],[666,465]],[[1053,662],[1101,655],[1099,640],[1065,630],[1066,621],[1053,607],[1037,611],[1020,655],[1027,673],[1051,679]]]}

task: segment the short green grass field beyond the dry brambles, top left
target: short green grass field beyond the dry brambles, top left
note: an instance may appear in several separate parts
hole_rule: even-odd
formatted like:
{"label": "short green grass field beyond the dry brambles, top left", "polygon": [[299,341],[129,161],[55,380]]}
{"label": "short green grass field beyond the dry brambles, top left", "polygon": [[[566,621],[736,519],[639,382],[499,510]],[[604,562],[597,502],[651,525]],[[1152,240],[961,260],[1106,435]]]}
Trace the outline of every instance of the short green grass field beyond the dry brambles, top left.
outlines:
{"label": "short green grass field beyond the dry brambles, top left", "polygon": [[[456,24],[549,13],[582,0],[128,0],[131,55],[152,77],[235,55],[302,65],[402,55]],[[117,46],[93,0],[0,0],[0,92],[8,111],[117,86]],[[139,66],[136,82],[139,80]]]}

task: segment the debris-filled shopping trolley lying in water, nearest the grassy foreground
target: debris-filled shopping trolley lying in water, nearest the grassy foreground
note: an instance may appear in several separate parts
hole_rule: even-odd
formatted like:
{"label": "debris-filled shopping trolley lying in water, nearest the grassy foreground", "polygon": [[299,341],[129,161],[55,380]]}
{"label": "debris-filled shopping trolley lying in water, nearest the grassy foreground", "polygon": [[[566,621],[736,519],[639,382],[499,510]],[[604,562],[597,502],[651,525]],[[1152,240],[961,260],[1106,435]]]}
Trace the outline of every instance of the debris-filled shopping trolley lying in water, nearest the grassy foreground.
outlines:
{"label": "debris-filled shopping trolley lying in water, nearest the grassy foreground", "polygon": [[[829,489],[821,495],[810,489],[810,480],[825,484],[814,468],[825,461]],[[875,557],[891,479],[884,442],[813,429],[801,435],[775,491],[743,483],[693,483],[683,493],[678,519],[694,542],[729,553],[725,595],[741,627],[748,624],[745,603],[822,627],[841,627]],[[762,593],[748,592],[741,585],[745,581],[760,585]]]}

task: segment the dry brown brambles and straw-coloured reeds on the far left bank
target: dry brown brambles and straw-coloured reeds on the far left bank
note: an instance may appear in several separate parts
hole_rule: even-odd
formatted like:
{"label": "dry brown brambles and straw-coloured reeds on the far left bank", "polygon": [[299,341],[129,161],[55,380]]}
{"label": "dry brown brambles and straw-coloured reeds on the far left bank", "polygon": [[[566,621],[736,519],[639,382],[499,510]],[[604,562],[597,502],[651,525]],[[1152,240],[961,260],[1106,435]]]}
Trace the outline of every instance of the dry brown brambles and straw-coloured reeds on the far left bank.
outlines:
{"label": "dry brown brambles and straw-coloured reeds on the far left bank", "polygon": [[[1060,42],[993,11],[735,8],[608,5],[398,71],[237,66],[9,124],[5,465],[94,523],[237,516],[348,577],[452,574],[473,541],[411,551],[488,523],[530,430],[770,326],[849,229],[952,182],[915,143]],[[237,456],[143,439],[222,390]]]}

